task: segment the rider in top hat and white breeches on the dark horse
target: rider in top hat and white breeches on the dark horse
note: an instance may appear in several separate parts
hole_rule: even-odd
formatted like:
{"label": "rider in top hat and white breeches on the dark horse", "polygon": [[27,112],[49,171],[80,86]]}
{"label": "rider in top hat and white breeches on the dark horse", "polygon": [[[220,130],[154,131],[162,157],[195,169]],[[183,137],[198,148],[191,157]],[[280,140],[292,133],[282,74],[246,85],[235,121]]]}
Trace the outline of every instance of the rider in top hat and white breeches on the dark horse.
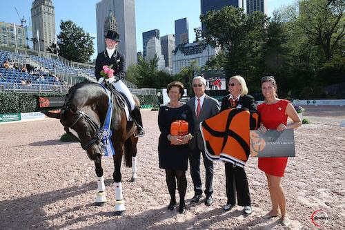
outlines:
{"label": "rider in top hat and white breeches on the dark horse", "polygon": [[114,75],[118,80],[110,83],[112,83],[112,86],[114,86],[117,91],[127,97],[127,101],[130,104],[130,110],[132,111],[132,119],[135,124],[137,124],[137,137],[141,137],[144,135],[144,129],[139,108],[135,106],[135,101],[130,90],[128,90],[124,82],[121,81],[121,79],[125,78],[125,57],[116,49],[116,46],[120,41],[119,33],[113,30],[108,30],[105,38],[106,50],[100,52],[96,59],[95,75],[97,81],[99,81],[99,83],[103,82],[103,77],[101,76],[103,66],[112,65],[112,69],[115,70]]}

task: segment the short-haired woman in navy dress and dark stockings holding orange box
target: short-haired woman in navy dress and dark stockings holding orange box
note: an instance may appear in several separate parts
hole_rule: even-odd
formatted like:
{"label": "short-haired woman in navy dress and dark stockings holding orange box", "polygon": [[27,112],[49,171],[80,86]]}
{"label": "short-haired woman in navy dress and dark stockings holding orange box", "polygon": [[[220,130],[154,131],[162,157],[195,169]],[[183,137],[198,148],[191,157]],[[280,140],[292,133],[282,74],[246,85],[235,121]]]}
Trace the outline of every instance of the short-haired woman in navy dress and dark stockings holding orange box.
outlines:
{"label": "short-haired woman in navy dress and dark stockings holding orange box", "polygon": [[[159,168],[166,171],[166,184],[170,194],[169,210],[176,205],[176,180],[179,191],[179,213],[186,212],[184,197],[187,190],[186,171],[188,167],[188,142],[192,139],[193,114],[188,106],[179,102],[184,95],[184,85],[181,82],[171,82],[167,86],[170,103],[161,106],[158,114],[159,136],[158,153]],[[184,120],[188,122],[188,134],[175,136],[170,134],[172,122]]]}

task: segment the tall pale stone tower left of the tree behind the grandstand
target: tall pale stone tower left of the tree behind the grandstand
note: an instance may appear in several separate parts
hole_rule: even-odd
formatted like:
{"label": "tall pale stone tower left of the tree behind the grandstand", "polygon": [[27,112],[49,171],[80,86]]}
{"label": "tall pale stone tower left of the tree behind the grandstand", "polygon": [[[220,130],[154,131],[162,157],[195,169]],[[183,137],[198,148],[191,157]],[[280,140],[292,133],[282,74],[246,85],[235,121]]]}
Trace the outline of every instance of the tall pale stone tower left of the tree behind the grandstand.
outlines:
{"label": "tall pale stone tower left of the tree behind the grandstand", "polygon": [[[31,8],[34,50],[46,51],[55,41],[55,8],[51,0],[34,0]],[[38,31],[38,32],[37,32]],[[39,40],[39,44],[37,42]]]}

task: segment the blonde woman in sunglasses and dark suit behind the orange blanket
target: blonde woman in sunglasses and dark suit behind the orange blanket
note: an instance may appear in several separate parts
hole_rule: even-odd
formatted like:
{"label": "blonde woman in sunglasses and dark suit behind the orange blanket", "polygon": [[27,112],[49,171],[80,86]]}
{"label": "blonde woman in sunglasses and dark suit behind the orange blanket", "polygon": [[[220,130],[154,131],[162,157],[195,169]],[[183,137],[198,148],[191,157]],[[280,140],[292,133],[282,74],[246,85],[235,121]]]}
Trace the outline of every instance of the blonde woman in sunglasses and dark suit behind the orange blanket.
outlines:
{"label": "blonde woman in sunglasses and dark suit behind the orange blanket", "polygon": [[[249,111],[257,111],[254,98],[247,94],[248,88],[243,77],[239,75],[230,77],[228,87],[230,94],[221,100],[221,111],[228,108],[248,108]],[[224,205],[224,210],[229,211],[235,207],[237,193],[237,202],[239,206],[244,206],[244,213],[247,215],[252,213],[248,180],[244,168],[226,162],[225,177],[228,201]]]}

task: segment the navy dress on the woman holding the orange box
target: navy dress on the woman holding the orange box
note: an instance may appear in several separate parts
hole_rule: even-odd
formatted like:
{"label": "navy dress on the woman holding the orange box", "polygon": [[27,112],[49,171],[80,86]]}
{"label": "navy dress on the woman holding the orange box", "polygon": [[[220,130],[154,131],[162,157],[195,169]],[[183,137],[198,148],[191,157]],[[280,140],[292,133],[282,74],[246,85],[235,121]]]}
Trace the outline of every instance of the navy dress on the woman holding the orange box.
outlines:
{"label": "navy dress on the woman holding the orange box", "polygon": [[183,170],[188,169],[188,144],[172,145],[167,136],[172,122],[188,122],[189,133],[193,132],[193,113],[186,105],[179,108],[161,106],[158,113],[158,126],[161,131],[158,142],[159,168]]}

